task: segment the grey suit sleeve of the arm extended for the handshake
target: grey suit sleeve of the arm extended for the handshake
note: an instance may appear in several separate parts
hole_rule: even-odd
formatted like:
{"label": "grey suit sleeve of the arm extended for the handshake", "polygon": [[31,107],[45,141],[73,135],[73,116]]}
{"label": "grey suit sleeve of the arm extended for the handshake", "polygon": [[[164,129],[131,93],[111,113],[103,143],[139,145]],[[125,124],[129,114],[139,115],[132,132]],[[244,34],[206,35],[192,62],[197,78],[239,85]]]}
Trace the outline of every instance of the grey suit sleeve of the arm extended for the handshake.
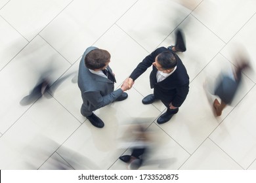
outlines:
{"label": "grey suit sleeve of the arm extended for the handshake", "polygon": [[114,92],[102,96],[100,91],[86,91],[83,94],[87,98],[87,100],[93,105],[95,108],[104,107],[110,103],[113,103],[119,96],[121,96],[123,90],[121,88],[115,90]]}

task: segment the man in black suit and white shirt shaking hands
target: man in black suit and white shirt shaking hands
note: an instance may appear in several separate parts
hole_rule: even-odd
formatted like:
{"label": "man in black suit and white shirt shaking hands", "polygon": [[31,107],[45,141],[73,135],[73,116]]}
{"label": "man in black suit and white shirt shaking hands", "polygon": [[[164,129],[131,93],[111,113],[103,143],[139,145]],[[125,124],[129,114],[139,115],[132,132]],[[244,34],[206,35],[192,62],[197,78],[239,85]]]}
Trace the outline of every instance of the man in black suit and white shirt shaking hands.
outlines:
{"label": "man in black suit and white shirt shaking hands", "polygon": [[[179,39],[177,42],[182,42],[184,45],[182,37],[177,37],[177,39]],[[188,95],[189,77],[181,59],[175,54],[177,51],[185,50],[177,48],[181,47],[175,45],[156,49],[146,56],[129,76],[129,87],[131,87],[133,82],[152,65],[150,87],[154,88],[154,93],[144,97],[142,103],[147,105],[160,99],[167,107],[167,111],[158,118],[158,124],[171,120]]]}

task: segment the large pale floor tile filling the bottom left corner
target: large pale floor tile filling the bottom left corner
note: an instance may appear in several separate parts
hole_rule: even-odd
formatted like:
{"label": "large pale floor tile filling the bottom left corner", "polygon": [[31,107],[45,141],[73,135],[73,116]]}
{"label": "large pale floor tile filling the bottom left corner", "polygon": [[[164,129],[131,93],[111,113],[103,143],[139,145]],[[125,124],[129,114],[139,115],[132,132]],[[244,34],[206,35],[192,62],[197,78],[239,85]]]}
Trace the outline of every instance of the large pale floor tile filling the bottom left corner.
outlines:
{"label": "large pale floor tile filling the bottom left corner", "polygon": [[53,98],[39,99],[1,137],[1,169],[38,169],[79,125]]}

